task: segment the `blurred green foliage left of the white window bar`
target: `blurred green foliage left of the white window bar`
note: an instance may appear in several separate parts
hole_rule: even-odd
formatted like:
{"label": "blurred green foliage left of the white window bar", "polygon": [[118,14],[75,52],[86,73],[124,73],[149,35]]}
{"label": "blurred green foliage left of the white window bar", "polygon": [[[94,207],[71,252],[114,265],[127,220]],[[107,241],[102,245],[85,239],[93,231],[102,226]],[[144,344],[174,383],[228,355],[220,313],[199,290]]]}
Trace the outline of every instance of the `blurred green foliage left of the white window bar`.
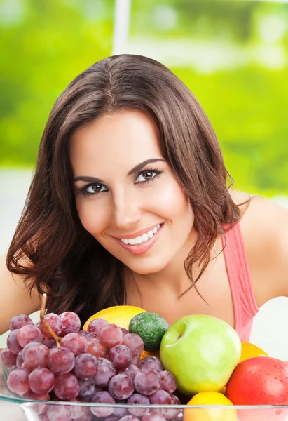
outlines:
{"label": "blurred green foliage left of the white window bar", "polygon": [[0,0],[0,165],[34,166],[57,96],[111,54],[114,0]]}

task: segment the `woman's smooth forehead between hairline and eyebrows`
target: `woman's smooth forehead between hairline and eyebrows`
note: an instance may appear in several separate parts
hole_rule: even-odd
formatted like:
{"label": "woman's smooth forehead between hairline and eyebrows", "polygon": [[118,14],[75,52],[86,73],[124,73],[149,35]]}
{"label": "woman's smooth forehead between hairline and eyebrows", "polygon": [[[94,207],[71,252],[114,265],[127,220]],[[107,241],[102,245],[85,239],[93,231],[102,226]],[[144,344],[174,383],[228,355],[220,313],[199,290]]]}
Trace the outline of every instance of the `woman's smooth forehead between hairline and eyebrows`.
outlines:
{"label": "woman's smooth forehead between hairline and eyebrows", "polygon": [[106,114],[77,128],[69,142],[72,168],[101,171],[105,166],[125,169],[161,155],[156,123],[144,112],[132,110]]}

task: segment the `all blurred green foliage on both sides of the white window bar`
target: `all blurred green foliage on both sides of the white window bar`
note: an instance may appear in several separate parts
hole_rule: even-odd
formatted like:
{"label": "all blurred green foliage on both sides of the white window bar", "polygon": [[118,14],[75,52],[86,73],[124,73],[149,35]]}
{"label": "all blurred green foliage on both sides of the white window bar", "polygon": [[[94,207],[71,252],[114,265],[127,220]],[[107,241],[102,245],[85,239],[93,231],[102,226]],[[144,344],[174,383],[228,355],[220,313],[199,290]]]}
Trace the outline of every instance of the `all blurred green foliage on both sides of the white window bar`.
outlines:
{"label": "all blurred green foliage on both sides of the white window bar", "polygon": [[[131,4],[129,42],[144,55],[148,46],[146,55],[191,88],[212,121],[235,187],[287,194],[288,4]],[[0,16],[0,165],[34,166],[57,95],[92,62],[111,55],[114,0],[0,0]],[[174,60],[170,43],[182,48],[184,41],[191,50]]]}

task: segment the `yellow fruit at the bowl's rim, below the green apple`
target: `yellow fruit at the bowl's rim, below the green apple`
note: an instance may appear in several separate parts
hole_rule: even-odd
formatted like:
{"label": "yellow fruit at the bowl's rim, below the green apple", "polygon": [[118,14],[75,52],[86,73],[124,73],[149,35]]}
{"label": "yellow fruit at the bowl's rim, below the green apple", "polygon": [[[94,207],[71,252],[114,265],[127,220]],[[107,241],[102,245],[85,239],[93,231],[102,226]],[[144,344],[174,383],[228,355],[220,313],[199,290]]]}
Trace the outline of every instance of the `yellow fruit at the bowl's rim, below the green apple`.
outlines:
{"label": "yellow fruit at the bowl's rim, below the green apple", "polygon": [[184,409],[184,421],[237,421],[234,408],[205,408],[205,406],[233,406],[224,394],[219,392],[200,392],[193,396],[187,405],[203,406],[203,408]]}

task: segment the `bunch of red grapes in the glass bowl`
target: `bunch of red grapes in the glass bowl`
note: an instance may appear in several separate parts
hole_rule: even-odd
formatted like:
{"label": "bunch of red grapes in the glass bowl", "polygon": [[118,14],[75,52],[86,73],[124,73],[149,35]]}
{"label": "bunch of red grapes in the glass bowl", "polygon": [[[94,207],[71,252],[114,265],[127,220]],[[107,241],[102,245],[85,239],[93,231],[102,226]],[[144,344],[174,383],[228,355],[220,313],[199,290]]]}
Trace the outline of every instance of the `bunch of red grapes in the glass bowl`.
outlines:
{"label": "bunch of red grapes in the glass bowl", "polygon": [[96,416],[106,421],[166,421],[181,417],[178,408],[147,407],[180,401],[174,395],[176,380],[163,369],[160,359],[140,359],[144,343],[139,335],[104,319],[94,319],[87,331],[81,330],[74,312],[49,313],[43,319],[56,339],[43,320],[34,324],[25,314],[11,319],[7,348],[1,353],[11,392],[38,401],[127,406],[35,403],[39,420],[91,421]]}

